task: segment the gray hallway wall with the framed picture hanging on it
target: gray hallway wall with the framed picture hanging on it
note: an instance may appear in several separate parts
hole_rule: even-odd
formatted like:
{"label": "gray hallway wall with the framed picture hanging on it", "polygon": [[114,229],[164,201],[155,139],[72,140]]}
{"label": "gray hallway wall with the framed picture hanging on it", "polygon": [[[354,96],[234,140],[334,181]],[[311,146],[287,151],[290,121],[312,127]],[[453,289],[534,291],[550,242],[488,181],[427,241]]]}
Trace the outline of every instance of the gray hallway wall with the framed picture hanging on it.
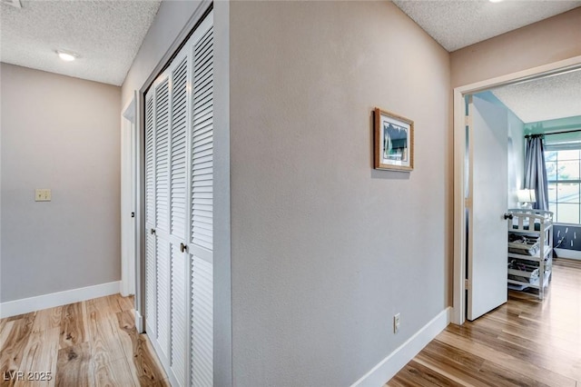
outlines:
{"label": "gray hallway wall with the framed picture hanging on it", "polygon": [[[448,53],[391,3],[230,15],[233,381],[348,385],[448,306]],[[372,169],[375,106],[410,174]]]}

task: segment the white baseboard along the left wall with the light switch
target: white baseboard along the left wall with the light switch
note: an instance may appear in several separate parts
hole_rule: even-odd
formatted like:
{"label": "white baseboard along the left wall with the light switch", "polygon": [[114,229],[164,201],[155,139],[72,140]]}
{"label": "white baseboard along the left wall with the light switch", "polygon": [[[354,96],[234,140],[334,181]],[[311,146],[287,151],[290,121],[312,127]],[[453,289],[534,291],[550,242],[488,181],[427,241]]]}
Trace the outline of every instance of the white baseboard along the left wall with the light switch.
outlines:
{"label": "white baseboard along the left wall with the light switch", "polygon": [[71,289],[64,292],[43,294],[36,297],[23,298],[0,303],[0,318],[11,317],[23,313],[31,313],[46,308],[79,303],[92,298],[119,293],[120,281],[100,283],[84,288]]}

